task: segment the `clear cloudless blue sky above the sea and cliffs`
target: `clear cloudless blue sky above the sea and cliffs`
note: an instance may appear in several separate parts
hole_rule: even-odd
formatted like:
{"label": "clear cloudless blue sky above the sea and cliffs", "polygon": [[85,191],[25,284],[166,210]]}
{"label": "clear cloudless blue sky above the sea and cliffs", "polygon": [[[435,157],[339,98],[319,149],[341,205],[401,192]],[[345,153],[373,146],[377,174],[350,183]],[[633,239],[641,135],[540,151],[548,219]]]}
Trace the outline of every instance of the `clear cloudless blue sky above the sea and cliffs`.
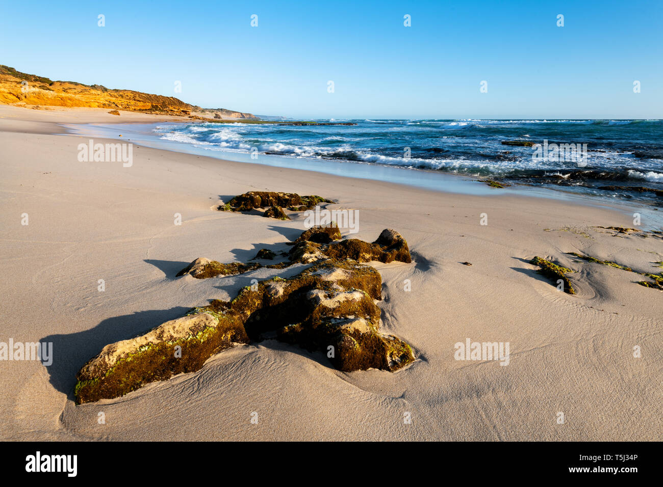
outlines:
{"label": "clear cloudless blue sky above the sea and cliffs", "polygon": [[663,0],[3,0],[0,64],[258,115],[660,119]]}

